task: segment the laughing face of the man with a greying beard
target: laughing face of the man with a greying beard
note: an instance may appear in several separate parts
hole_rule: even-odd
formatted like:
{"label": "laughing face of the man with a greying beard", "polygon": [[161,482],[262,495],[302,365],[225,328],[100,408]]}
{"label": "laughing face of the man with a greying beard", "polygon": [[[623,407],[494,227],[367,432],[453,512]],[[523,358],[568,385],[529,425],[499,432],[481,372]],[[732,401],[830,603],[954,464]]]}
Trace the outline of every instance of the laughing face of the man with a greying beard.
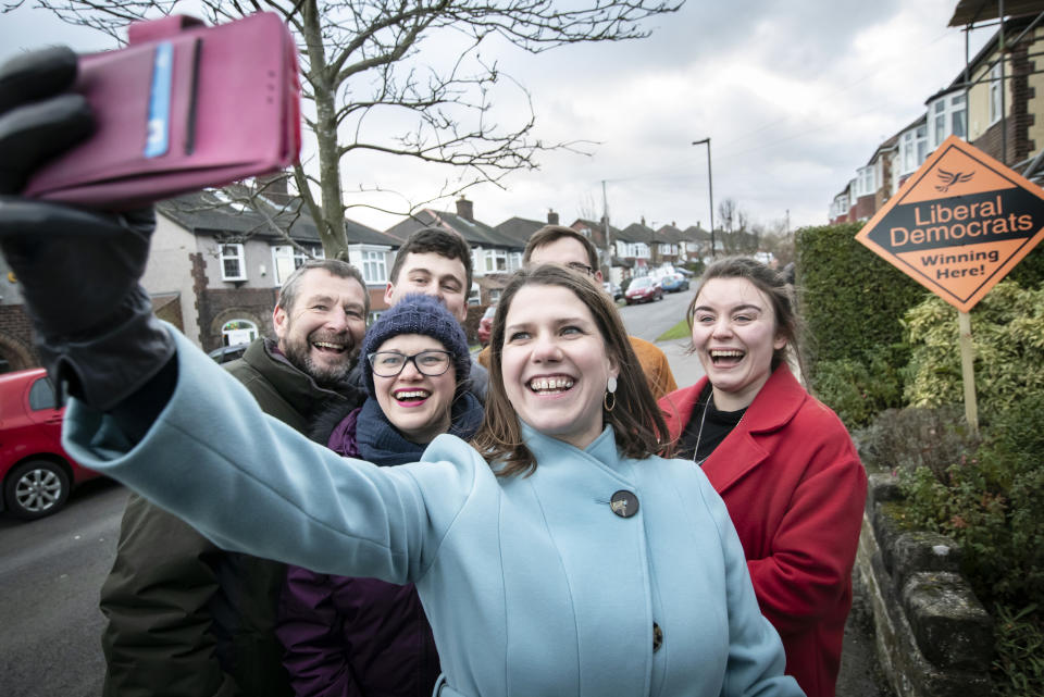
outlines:
{"label": "laughing face of the man with a greying beard", "polygon": [[365,290],[355,278],[308,271],[290,308],[276,307],[279,350],[322,387],[348,376],[366,333]]}

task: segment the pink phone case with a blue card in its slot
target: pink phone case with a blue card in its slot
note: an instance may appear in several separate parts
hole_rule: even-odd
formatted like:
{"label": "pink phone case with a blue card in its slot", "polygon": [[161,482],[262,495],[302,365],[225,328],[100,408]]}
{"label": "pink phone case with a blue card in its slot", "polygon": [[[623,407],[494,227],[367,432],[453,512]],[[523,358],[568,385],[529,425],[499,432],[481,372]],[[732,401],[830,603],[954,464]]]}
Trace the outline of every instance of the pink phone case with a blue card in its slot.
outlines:
{"label": "pink phone case with a blue card in its slot", "polygon": [[80,58],[74,89],[97,129],[37,171],[26,196],[129,208],[297,161],[297,51],[278,15],[214,27],[170,16],[130,25],[128,39]]}

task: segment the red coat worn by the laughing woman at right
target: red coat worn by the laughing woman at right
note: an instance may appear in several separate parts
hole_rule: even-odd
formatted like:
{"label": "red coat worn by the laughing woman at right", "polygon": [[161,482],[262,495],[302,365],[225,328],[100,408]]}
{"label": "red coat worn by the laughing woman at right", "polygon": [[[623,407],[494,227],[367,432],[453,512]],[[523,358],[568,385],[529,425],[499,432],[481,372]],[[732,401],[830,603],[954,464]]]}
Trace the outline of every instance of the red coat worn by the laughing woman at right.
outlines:
{"label": "red coat worn by the laughing woman at right", "polygon": [[[706,384],[660,400],[672,437]],[[739,533],[761,612],[783,639],[786,672],[808,697],[833,697],[867,497],[848,432],[784,364],[704,472]]]}

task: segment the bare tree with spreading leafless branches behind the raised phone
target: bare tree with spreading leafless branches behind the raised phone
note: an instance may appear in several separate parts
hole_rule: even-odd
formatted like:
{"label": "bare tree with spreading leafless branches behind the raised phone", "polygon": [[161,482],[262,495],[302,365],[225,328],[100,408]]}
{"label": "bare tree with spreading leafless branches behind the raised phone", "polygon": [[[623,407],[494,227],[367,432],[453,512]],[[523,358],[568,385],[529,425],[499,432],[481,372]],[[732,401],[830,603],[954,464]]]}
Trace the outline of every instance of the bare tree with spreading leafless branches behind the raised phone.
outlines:
{"label": "bare tree with spreading leafless branches behind the raised phone", "polygon": [[[480,47],[498,37],[539,53],[569,43],[643,38],[648,35],[645,20],[675,12],[684,0],[586,2],[559,8],[552,0],[201,0],[201,5],[211,22],[274,11],[294,32],[303,95],[314,107],[306,125],[318,150],[318,175],[299,165],[294,179],[326,254],[334,257],[346,248],[341,173],[350,153],[380,152],[453,166],[457,176],[433,192],[434,199],[481,182],[502,186],[507,174],[535,167],[540,151],[584,147],[582,141],[545,144],[537,138],[530,95],[496,62],[485,60]],[[23,3],[10,0],[3,9]],[[175,2],[33,4],[119,39],[127,23],[169,14]],[[442,47],[435,46],[439,42]],[[446,60],[447,42],[452,60]],[[521,119],[507,125],[493,117],[492,101],[494,88],[505,83],[521,90],[525,104]],[[372,135],[374,123],[406,125],[388,137]],[[360,190],[380,189],[360,185]],[[415,206],[389,212],[409,212]]]}

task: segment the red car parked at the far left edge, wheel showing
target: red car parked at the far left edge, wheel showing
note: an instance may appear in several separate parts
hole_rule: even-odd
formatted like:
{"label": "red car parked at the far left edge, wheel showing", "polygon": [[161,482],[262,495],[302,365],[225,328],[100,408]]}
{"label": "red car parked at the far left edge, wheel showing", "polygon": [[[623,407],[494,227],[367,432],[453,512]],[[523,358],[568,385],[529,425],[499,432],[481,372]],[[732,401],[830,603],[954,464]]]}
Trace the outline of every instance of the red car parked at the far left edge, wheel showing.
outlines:
{"label": "red car parked at the far left edge, wheel showing", "polygon": [[15,518],[55,513],[74,486],[99,476],[62,447],[64,413],[42,368],[0,375],[0,507]]}

